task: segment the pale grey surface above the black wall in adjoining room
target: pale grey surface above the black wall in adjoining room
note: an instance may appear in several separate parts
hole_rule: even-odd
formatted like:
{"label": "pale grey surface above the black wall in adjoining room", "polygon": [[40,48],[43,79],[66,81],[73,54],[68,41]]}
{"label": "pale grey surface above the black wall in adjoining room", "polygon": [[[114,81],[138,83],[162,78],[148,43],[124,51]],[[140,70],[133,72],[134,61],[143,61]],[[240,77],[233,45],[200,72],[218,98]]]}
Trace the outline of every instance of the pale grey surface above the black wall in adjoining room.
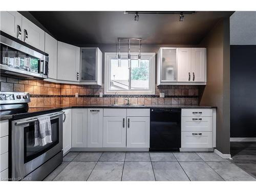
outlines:
{"label": "pale grey surface above the black wall in adjoining room", "polygon": [[256,45],[256,11],[236,11],[230,16],[230,45]]}

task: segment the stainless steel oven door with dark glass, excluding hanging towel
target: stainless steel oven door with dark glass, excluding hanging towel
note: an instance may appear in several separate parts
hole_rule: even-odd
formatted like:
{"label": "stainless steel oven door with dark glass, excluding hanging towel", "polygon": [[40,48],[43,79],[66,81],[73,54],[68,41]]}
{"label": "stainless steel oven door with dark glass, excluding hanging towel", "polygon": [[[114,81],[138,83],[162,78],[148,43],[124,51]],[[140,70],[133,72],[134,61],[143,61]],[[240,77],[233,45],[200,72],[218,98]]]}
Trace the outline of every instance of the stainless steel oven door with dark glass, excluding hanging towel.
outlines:
{"label": "stainless steel oven door with dark glass, excluding hanging towel", "polygon": [[62,150],[62,112],[51,117],[52,143],[34,146],[35,121],[32,118],[12,122],[12,178],[23,178]]}

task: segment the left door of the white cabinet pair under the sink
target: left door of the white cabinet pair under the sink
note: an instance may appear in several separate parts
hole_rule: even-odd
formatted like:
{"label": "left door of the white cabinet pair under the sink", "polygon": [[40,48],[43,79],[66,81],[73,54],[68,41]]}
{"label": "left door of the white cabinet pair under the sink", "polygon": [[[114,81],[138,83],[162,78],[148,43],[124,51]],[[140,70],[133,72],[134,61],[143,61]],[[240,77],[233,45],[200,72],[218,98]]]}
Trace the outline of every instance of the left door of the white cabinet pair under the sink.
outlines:
{"label": "left door of the white cabinet pair under the sink", "polygon": [[103,147],[126,147],[126,117],[103,117]]}

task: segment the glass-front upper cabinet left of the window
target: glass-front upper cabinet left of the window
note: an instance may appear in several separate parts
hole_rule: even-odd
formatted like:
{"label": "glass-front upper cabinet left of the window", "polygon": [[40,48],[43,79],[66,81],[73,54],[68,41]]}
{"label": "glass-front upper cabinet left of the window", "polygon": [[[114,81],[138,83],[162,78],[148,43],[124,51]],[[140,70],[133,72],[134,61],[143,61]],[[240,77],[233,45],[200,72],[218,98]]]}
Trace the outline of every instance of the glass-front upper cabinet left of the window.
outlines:
{"label": "glass-front upper cabinet left of the window", "polygon": [[99,48],[81,48],[80,81],[102,85],[102,52]]}

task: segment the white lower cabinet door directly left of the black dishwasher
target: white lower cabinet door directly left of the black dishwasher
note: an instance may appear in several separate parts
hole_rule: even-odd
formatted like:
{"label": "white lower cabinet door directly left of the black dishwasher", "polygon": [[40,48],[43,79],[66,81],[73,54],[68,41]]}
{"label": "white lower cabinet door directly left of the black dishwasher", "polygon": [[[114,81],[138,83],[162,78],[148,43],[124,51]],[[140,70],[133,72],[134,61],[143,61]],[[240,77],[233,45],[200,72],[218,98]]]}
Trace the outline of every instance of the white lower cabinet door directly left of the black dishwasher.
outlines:
{"label": "white lower cabinet door directly left of the black dishwasher", "polygon": [[126,147],[150,147],[150,117],[127,117]]}

